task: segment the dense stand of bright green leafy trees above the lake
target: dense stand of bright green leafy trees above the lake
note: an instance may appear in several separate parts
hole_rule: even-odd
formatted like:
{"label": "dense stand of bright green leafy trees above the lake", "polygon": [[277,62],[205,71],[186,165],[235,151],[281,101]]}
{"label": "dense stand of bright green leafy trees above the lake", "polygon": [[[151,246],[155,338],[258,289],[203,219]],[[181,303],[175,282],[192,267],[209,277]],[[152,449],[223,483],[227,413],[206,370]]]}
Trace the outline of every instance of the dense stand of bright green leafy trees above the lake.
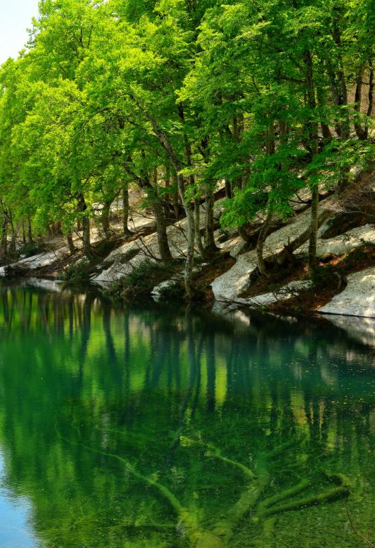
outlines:
{"label": "dense stand of bright green leafy trees above the lake", "polygon": [[[374,10],[370,0],[42,0],[29,42],[0,70],[0,258],[19,238],[60,232],[70,253],[90,227],[111,240],[129,192],[152,211],[159,260],[167,227],[187,224],[184,284],[194,259],[217,252],[223,229],[255,241],[259,273],[273,223],[307,192],[305,231],[274,258],[309,242],[337,204],[368,185],[374,138]],[[200,219],[204,204],[204,223]],[[251,223],[262,219],[257,231]],[[201,225],[203,223],[203,229]]]}

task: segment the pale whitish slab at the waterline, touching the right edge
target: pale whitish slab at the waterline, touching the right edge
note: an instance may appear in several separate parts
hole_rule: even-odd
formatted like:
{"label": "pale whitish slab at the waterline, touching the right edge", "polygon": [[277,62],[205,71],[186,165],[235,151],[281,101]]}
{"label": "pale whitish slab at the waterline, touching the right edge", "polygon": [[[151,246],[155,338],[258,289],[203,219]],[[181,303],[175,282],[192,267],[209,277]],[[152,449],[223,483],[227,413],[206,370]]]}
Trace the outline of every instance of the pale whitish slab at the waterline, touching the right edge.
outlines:
{"label": "pale whitish slab at the waterline, touching the right edge", "polygon": [[348,285],[322,306],[323,314],[375,318],[375,266],[348,276]]}

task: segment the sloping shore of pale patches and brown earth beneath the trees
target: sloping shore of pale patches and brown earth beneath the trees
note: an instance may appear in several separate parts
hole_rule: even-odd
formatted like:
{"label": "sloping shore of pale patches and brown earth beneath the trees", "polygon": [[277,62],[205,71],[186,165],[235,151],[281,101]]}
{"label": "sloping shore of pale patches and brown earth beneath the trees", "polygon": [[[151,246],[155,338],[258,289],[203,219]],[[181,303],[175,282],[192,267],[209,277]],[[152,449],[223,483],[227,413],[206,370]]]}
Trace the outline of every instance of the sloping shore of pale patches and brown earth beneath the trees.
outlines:
{"label": "sloping shore of pale patches and brown earth beneath the trees", "polygon": [[[327,200],[329,197],[321,202],[321,208],[326,206]],[[272,258],[279,251],[296,240],[305,230],[310,210],[300,209],[301,212],[296,208],[292,219],[274,229],[266,238],[266,261],[272,262]],[[293,260],[296,264],[289,267],[284,279],[283,276],[275,279],[270,271],[269,277],[259,282],[255,249],[246,249],[245,242],[236,232],[225,234],[220,229],[218,220],[221,210],[221,203],[218,201],[215,209],[215,222],[218,226],[215,236],[219,252],[211,262],[197,262],[195,269],[197,286],[205,293],[205,299],[211,300],[217,310],[256,308],[278,312],[280,308],[281,312],[289,309],[306,313],[318,312],[375,319],[373,224],[367,222],[348,230],[340,227],[333,231],[334,223],[328,221],[320,228],[317,256],[322,271],[326,272],[328,278],[331,275],[331,286],[328,284],[328,288],[324,287],[322,280],[317,284],[316,280],[314,282],[308,279],[306,244],[294,253]],[[204,214],[201,218],[204,219]],[[107,290],[114,282],[134,272],[144,262],[151,264],[151,269],[152,264],[157,264],[157,234],[153,229],[153,221],[140,217],[134,219],[135,225],[133,236],[125,240],[114,238],[112,249],[90,267],[88,279],[91,284]],[[151,288],[150,293],[155,299],[168,296],[168,290],[181,283],[182,268],[179,267],[179,260],[182,261],[187,249],[186,229],[185,219],[168,227],[168,238],[172,242],[170,247],[176,265],[173,272],[169,273],[172,275],[168,275],[166,269],[161,281]],[[334,232],[337,234],[333,234]],[[100,234],[93,234],[93,238],[101,241]],[[75,244],[79,247],[79,238]],[[66,268],[82,262],[84,259],[79,252],[72,258],[67,247],[57,247],[1,266],[0,277],[48,275],[53,279],[59,279]],[[174,298],[173,292],[171,298]]]}

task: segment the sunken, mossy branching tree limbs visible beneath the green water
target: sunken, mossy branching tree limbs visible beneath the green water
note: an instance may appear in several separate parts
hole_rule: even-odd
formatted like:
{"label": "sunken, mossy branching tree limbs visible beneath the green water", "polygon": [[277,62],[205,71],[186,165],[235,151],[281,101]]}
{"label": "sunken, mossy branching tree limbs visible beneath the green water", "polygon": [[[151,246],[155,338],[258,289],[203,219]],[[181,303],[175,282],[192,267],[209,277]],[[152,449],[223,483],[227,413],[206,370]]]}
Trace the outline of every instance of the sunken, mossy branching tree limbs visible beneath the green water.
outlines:
{"label": "sunken, mossy branching tree limbs visible beneath the green water", "polygon": [[[92,451],[93,453],[118,460],[125,466],[129,473],[135,477],[135,479],[138,479],[140,482],[144,482],[157,490],[159,494],[164,497],[166,501],[168,501],[175,514],[177,514],[177,517],[185,530],[186,537],[194,548],[227,548],[238,526],[238,523],[240,523],[246,514],[248,514],[248,512],[250,512],[253,508],[257,508],[256,518],[264,520],[263,540],[266,544],[263,543],[261,546],[266,548],[272,541],[274,525],[279,519],[279,514],[331,502],[341,497],[346,497],[350,493],[350,484],[344,475],[326,473],[328,479],[331,479],[331,481],[335,482],[337,485],[324,493],[320,493],[319,495],[311,495],[311,497],[305,497],[295,501],[281,503],[281,501],[290,499],[290,497],[301,493],[302,490],[305,490],[310,486],[308,479],[302,479],[297,485],[287,488],[281,493],[272,495],[271,497],[263,499],[263,501],[259,502],[259,498],[261,497],[263,490],[270,481],[268,461],[282,453],[287,447],[290,447],[290,445],[293,445],[295,443],[295,438],[289,440],[283,445],[274,447],[271,451],[260,452],[257,456],[256,471],[253,473],[253,471],[248,469],[248,467],[244,464],[223,456],[220,450],[214,445],[210,443],[203,443],[200,440],[193,440],[180,436],[181,445],[203,447],[206,450],[205,456],[209,458],[217,458],[222,460],[222,462],[231,464],[231,466],[234,466],[242,471],[248,480],[251,480],[242,491],[237,502],[233,504],[233,506],[231,506],[231,508],[229,508],[224,515],[220,516],[220,519],[218,519],[212,527],[207,528],[203,527],[201,523],[198,523],[198,519],[196,518],[194,512],[190,512],[188,508],[185,508],[168,487],[161,484],[157,481],[157,479],[140,473],[126,458],[123,458],[116,453],[95,449],[83,443],[74,443],[67,438],[63,438],[58,432],[57,435],[59,435],[61,439],[70,445],[82,447],[87,451]],[[140,527],[142,527],[142,525],[140,525]]]}

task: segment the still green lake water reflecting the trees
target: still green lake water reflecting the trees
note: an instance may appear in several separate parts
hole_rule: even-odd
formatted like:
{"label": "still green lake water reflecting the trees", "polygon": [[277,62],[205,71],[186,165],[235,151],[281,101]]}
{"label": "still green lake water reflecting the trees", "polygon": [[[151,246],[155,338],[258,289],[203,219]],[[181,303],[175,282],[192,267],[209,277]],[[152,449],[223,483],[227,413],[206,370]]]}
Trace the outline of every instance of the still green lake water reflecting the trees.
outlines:
{"label": "still green lake water reflecting the trees", "polygon": [[[374,517],[374,352],[0,289],[1,548],[348,548]],[[370,533],[371,536],[371,533]]]}

